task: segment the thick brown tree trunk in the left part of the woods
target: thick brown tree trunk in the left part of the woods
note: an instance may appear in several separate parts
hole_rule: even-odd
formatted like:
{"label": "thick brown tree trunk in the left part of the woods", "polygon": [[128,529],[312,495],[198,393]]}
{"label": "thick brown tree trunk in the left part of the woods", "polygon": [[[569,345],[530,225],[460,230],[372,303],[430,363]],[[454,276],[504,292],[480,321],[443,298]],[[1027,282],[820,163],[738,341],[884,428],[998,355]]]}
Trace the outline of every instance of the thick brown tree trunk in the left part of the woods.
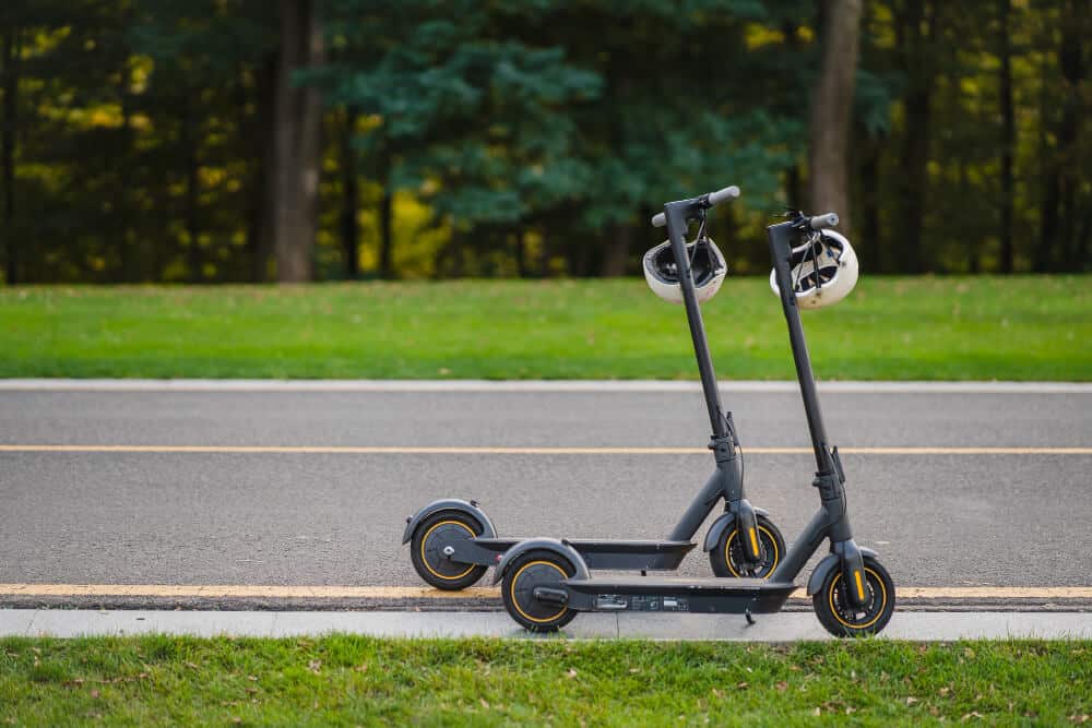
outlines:
{"label": "thick brown tree trunk in the left part of the woods", "polygon": [[300,283],[313,277],[318,226],[322,104],[313,87],[297,87],[293,74],[322,60],[319,0],[281,0],[274,174],[276,225],[273,248],[277,279]]}

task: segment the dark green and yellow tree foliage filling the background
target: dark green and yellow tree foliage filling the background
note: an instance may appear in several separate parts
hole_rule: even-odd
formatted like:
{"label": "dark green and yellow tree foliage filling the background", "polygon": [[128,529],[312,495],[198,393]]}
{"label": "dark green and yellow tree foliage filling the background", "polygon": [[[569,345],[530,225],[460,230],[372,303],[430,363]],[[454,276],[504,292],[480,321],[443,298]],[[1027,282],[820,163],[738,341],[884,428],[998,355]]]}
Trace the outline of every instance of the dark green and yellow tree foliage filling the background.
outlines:
{"label": "dark green and yellow tree foliage filling the background", "polygon": [[[1007,48],[1001,7],[865,2],[850,218],[868,270],[999,270],[1008,202],[1017,270],[1092,265],[1092,15],[1012,2]],[[727,183],[744,198],[715,232],[758,238],[784,204],[807,205],[816,8],[325,0],[327,60],[294,79],[329,108],[319,270],[339,277],[357,243],[375,270],[384,193],[403,201],[393,261],[411,276],[636,273],[657,240],[649,215]],[[15,255],[32,282],[265,277],[276,3],[9,0],[0,27],[5,271]],[[764,268],[762,246],[739,265]]]}

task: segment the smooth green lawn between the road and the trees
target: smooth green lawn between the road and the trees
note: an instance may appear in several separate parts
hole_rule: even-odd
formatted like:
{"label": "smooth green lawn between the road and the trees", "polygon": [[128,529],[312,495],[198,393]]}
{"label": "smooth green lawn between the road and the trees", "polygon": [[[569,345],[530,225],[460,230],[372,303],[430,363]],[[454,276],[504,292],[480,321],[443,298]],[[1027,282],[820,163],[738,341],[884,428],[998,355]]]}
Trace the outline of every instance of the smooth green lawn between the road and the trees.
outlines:
{"label": "smooth green lawn between the road and the trees", "polygon": [[[792,379],[776,299],[704,308],[724,379]],[[821,379],[1092,380],[1092,278],[862,279],[807,312]],[[696,379],[642,281],[0,289],[0,377]]]}

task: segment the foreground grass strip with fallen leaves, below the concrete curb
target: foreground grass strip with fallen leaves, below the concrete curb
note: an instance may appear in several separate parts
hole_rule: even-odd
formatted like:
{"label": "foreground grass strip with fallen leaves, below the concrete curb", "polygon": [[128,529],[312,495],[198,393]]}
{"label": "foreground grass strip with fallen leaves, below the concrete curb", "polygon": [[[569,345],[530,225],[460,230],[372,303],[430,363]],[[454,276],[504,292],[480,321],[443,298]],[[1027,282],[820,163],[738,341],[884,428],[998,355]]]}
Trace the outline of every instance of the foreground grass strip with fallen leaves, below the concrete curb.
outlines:
{"label": "foreground grass strip with fallen leaves, below the concrete curb", "polygon": [[21,726],[1064,725],[1090,713],[1092,642],[0,641],[0,724]]}

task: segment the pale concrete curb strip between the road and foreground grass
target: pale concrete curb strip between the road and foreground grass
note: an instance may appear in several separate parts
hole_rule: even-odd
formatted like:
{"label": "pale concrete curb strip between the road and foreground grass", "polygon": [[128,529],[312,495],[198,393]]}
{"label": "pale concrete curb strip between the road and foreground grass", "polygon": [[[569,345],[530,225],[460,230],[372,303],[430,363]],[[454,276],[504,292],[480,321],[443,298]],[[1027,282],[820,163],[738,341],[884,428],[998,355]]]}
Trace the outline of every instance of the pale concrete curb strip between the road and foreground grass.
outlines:
{"label": "pale concrete curb strip between the road and foreground grass", "polygon": [[[0,636],[289,637],[331,632],[378,637],[533,639],[497,612],[90,611],[0,610]],[[814,614],[761,616],[748,625],[735,614],[581,614],[563,636],[574,639],[796,642],[829,640]],[[1089,640],[1092,614],[1073,612],[898,612],[881,635],[891,640]]]}

